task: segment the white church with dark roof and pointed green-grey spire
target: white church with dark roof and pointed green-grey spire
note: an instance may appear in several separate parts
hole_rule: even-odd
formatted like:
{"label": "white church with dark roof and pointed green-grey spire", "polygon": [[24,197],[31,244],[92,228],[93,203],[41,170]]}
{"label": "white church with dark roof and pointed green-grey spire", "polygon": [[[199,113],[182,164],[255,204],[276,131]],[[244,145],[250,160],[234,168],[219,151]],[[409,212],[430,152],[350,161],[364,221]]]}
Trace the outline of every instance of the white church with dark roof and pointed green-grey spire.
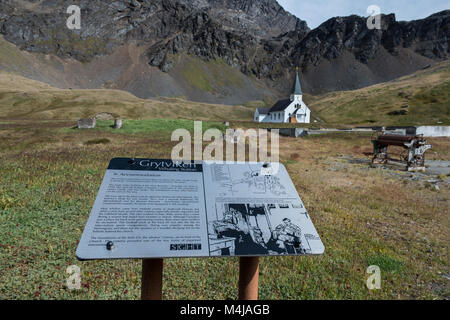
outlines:
{"label": "white church with dark roof and pointed green-grey spire", "polygon": [[278,101],[272,108],[257,108],[255,111],[255,122],[310,123],[310,121],[311,110],[303,102],[298,68],[291,98]]}

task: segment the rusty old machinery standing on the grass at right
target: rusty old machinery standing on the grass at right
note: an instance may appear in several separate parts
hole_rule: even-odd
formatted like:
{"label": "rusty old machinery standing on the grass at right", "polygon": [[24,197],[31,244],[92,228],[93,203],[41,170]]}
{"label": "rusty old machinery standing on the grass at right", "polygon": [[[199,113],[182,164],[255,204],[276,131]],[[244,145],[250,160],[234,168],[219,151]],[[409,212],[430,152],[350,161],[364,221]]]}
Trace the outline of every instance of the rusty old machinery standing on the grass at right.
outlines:
{"label": "rusty old machinery standing on the grass at right", "polygon": [[[425,170],[425,152],[431,149],[431,144],[427,144],[424,137],[382,133],[376,138],[373,137],[372,143],[372,163],[387,163],[390,160],[406,163],[408,171]],[[400,159],[391,158],[388,155],[389,146],[398,146],[404,149],[404,152],[400,154]]]}

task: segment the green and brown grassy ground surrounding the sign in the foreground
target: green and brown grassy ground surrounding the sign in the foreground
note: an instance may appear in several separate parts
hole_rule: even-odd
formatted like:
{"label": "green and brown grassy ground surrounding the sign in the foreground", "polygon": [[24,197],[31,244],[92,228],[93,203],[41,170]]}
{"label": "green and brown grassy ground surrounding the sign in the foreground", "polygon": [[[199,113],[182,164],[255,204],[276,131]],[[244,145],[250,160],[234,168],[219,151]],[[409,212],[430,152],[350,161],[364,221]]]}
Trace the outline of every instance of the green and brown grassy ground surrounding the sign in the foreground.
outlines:
{"label": "green and brown grassy ground surrounding the sign in the foreground", "polygon": [[[170,157],[176,143],[168,133],[179,126],[192,129],[191,123],[131,122],[122,133],[109,128],[112,121],[100,121],[97,130],[70,129],[70,122],[67,129],[53,122],[1,128],[0,299],[138,299],[139,260],[80,262],[77,243],[110,159]],[[166,133],[158,136],[154,130]],[[84,143],[101,139],[111,142]],[[344,161],[338,163],[345,167],[330,170],[337,152],[361,157],[360,148],[369,144],[364,135],[280,141],[281,161],[326,251],[314,257],[262,258],[261,299],[448,297],[448,280],[439,274],[449,272],[448,208],[442,201],[449,198],[448,190],[404,185],[386,170]],[[450,159],[448,140],[431,142],[440,157]],[[237,297],[238,259],[165,263],[165,299]],[[66,268],[73,264],[82,272],[78,291],[65,284]],[[372,264],[381,268],[381,290],[366,288]]]}

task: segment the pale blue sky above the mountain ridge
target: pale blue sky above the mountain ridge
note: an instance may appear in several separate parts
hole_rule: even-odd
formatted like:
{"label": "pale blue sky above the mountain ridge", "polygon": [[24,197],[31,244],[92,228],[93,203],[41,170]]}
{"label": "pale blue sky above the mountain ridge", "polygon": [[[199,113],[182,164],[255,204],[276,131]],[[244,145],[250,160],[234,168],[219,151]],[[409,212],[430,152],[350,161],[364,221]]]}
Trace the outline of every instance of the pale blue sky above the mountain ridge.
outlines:
{"label": "pale blue sky above the mountain ridge", "polygon": [[397,21],[423,19],[450,9],[450,0],[278,0],[283,8],[313,29],[336,16],[357,14],[368,17],[367,8],[376,5],[381,13],[395,13]]}

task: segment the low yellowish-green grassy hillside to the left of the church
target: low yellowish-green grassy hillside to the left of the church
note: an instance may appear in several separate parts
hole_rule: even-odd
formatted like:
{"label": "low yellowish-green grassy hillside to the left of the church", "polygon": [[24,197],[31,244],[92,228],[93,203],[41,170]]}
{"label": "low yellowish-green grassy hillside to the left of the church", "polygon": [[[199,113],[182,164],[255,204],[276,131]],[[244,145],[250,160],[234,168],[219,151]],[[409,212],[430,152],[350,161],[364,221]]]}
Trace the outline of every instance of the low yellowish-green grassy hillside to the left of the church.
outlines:
{"label": "low yellowish-green grassy hillside to the left of the church", "polygon": [[249,120],[253,110],[180,98],[139,99],[120,90],[62,90],[0,72],[0,118],[79,119],[109,112],[125,119]]}

